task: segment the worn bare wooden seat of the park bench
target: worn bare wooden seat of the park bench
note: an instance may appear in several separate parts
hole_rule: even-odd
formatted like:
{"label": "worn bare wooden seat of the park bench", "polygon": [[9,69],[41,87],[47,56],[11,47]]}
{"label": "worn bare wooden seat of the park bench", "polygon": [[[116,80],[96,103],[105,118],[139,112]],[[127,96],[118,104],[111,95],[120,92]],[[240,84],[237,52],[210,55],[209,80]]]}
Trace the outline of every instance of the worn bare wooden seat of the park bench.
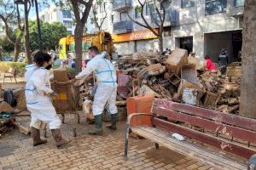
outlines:
{"label": "worn bare wooden seat of the park bench", "polygon": [[164,131],[158,130],[157,132],[150,132],[150,130],[153,129],[154,127],[133,127],[131,131],[184,156],[207,162],[212,167],[217,167],[218,169],[241,170],[246,167],[244,164],[232,161],[224,156],[218,156],[205,148],[199,148],[187,141],[172,139],[172,137]]}

